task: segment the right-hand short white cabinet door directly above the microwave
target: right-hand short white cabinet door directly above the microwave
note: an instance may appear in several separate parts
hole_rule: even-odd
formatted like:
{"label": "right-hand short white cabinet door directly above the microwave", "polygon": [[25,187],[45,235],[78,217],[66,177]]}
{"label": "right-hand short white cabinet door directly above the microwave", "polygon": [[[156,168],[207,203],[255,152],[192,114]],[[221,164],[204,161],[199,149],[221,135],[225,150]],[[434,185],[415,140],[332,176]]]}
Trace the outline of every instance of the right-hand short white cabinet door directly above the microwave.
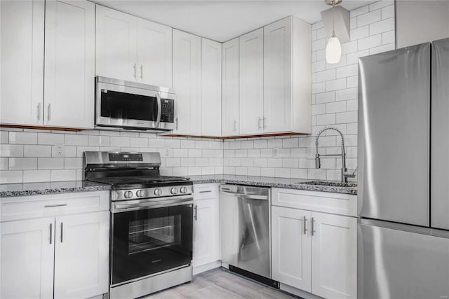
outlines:
{"label": "right-hand short white cabinet door directly above the microwave", "polygon": [[137,22],[138,81],[171,88],[172,29],[140,18]]}

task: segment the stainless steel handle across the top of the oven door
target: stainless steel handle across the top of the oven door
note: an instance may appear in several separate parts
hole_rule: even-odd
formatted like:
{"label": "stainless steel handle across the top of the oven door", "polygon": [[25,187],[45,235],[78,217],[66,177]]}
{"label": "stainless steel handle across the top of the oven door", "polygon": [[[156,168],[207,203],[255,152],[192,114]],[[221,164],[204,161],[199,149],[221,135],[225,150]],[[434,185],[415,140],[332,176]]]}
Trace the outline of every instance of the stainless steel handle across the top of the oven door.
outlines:
{"label": "stainless steel handle across the top of the oven door", "polygon": [[146,200],[125,200],[121,202],[112,202],[112,213],[119,213],[122,211],[132,211],[137,209],[149,209],[156,207],[169,207],[180,204],[192,204],[192,195],[182,195],[176,197],[160,197],[149,198]]}

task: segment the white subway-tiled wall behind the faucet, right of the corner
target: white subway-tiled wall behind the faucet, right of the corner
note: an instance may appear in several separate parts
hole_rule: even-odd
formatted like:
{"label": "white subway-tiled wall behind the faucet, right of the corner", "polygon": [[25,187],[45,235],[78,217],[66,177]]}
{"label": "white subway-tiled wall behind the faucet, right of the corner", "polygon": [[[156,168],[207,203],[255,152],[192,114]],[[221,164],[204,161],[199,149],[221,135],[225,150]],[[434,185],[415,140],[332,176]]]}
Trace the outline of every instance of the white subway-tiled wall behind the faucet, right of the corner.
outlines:
{"label": "white subway-tiled wall behind the faucet, right of the corner", "polygon": [[[225,141],[226,174],[340,180],[341,158],[322,158],[315,168],[315,136],[324,127],[344,134],[347,168],[357,164],[358,57],[395,48],[394,1],[378,1],[350,12],[351,41],[342,45],[339,64],[326,64],[326,30],[312,25],[312,134]],[[340,137],[327,131],[320,153],[340,153]],[[275,156],[273,148],[279,148]]]}

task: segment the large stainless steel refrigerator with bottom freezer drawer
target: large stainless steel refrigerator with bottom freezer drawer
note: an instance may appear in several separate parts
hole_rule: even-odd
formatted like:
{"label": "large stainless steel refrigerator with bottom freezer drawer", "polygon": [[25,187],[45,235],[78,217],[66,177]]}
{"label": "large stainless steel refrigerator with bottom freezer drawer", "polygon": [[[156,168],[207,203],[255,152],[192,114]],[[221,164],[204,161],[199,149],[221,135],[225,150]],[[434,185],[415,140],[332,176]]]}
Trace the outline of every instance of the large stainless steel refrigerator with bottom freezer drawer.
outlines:
{"label": "large stainless steel refrigerator with bottom freezer drawer", "polygon": [[449,297],[449,39],[359,60],[358,298]]}

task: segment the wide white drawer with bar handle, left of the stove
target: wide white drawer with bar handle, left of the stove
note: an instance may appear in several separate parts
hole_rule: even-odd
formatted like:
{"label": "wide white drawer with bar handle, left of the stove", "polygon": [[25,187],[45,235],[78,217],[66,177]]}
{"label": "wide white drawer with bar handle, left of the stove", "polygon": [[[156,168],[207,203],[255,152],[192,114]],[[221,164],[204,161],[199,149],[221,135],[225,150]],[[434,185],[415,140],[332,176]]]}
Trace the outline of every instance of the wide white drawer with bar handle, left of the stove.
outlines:
{"label": "wide white drawer with bar handle, left of the stove", "polygon": [[109,191],[4,197],[1,221],[109,210]]}

